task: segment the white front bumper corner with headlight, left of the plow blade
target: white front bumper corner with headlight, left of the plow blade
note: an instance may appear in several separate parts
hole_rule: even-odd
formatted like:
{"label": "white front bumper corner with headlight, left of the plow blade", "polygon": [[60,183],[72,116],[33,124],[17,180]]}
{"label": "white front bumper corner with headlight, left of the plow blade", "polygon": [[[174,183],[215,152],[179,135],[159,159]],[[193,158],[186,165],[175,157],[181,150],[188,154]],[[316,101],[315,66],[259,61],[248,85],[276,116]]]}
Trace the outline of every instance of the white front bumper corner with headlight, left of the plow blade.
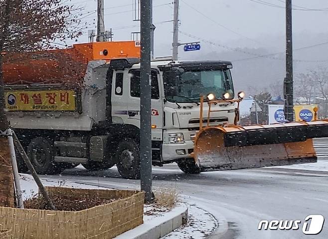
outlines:
{"label": "white front bumper corner with headlight, left of the plow blade", "polygon": [[191,140],[186,140],[184,144],[163,144],[162,152],[164,163],[191,158],[190,153],[193,152],[193,142]]}

